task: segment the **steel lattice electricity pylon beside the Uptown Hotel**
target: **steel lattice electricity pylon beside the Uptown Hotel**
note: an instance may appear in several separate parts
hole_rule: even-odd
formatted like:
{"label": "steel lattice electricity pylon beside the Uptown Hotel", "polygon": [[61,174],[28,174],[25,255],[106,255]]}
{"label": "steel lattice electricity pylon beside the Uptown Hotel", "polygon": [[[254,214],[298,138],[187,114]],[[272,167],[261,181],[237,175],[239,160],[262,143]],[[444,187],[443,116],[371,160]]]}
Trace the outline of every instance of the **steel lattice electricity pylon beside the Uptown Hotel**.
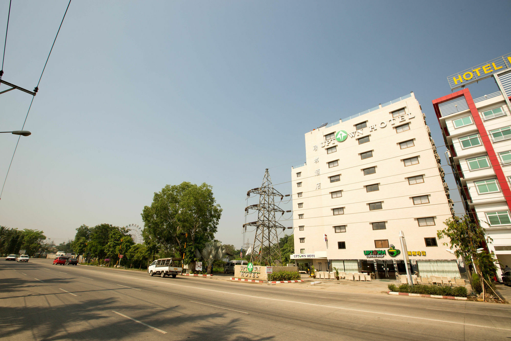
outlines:
{"label": "steel lattice electricity pylon beside the Uptown Hotel", "polygon": [[[250,262],[259,261],[261,265],[282,264],[281,249],[278,247],[277,228],[285,230],[286,227],[275,220],[275,214],[280,212],[284,215],[286,211],[275,205],[274,197],[281,197],[282,201],[285,196],[289,197],[289,194],[284,196],[273,188],[268,168],[266,168],[261,187],[250,189],[247,192],[247,198],[252,194],[259,195],[259,204],[245,207],[245,215],[248,214],[249,209],[257,210],[258,220],[243,224],[245,230],[247,226],[255,226],[255,237],[252,244],[253,249],[250,253]],[[291,212],[291,210],[287,212]]]}

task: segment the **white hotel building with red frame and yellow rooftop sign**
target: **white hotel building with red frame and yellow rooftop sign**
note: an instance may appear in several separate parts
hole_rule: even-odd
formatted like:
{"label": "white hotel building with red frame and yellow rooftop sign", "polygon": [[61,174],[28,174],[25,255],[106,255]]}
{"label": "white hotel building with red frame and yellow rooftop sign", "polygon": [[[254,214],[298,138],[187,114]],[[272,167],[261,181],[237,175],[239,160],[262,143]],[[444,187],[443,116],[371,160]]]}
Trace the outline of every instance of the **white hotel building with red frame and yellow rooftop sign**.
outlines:
{"label": "white hotel building with red frame and yellow rooftop sign", "polygon": [[[511,54],[506,56],[481,67],[494,72],[489,76],[500,91],[473,99],[463,89],[433,100],[465,209],[493,239],[485,246],[500,263],[499,281],[502,269],[511,266]],[[457,83],[461,75],[469,80],[481,70],[471,69],[461,72]]]}

